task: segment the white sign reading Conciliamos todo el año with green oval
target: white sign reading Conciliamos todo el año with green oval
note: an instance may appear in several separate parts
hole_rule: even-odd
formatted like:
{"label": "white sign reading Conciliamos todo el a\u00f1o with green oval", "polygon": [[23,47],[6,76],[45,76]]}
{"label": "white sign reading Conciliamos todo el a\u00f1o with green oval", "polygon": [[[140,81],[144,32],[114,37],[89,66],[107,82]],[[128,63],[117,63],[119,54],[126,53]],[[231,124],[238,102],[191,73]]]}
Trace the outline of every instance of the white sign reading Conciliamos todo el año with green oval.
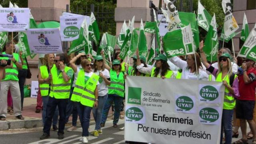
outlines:
{"label": "white sign reading Conciliamos todo el a\u00f1o with green oval", "polygon": [[60,16],[60,37],[62,41],[78,39],[84,16]]}

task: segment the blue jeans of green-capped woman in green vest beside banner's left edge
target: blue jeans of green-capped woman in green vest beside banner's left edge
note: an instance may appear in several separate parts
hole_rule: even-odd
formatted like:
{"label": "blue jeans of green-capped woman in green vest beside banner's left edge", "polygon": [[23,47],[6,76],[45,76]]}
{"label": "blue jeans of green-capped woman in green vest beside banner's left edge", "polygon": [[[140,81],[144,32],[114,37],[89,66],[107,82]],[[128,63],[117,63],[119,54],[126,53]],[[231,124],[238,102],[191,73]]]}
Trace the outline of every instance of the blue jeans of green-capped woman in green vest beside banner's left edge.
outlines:
{"label": "blue jeans of green-capped woman in green vest beside banner's left edge", "polygon": [[108,117],[108,111],[110,109],[110,106],[112,105],[112,103],[114,102],[114,108],[115,108],[115,112],[114,112],[114,120],[113,120],[113,124],[117,124],[118,120],[119,120],[119,116],[120,116],[120,108],[122,106],[122,101],[124,100],[124,98],[116,95],[116,94],[108,94],[108,98],[106,100],[106,103],[104,105],[103,111],[102,111],[102,120],[101,123],[105,124],[107,117]]}

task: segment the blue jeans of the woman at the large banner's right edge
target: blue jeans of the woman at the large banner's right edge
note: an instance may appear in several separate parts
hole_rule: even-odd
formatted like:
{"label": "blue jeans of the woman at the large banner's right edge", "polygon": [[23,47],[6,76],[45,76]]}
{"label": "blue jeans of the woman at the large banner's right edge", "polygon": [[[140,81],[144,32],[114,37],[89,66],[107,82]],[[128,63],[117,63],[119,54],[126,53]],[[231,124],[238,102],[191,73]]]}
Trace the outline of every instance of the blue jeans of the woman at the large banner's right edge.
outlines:
{"label": "blue jeans of the woman at the large banner's right edge", "polygon": [[225,144],[231,144],[232,142],[232,116],[233,110],[222,110],[220,144],[222,144],[223,128],[225,133]]}

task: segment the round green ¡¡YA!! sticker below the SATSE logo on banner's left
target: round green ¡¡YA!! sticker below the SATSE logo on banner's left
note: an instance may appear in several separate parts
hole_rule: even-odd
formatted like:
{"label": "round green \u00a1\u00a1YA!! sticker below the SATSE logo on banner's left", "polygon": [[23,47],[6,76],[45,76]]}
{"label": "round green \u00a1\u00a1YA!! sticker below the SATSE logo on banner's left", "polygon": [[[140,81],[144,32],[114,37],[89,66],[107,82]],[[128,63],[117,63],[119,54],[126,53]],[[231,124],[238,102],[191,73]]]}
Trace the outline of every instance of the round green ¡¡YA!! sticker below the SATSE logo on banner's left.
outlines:
{"label": "round green \u00a1\u00a1YA!! sticker below the SATSE logo on banner's left", "polygon": [[137,107],[131,107],[128,110],[126,110],[125,115],[127,118],[139,121],[143,118],[143,112],[140,110],[140,108]]}

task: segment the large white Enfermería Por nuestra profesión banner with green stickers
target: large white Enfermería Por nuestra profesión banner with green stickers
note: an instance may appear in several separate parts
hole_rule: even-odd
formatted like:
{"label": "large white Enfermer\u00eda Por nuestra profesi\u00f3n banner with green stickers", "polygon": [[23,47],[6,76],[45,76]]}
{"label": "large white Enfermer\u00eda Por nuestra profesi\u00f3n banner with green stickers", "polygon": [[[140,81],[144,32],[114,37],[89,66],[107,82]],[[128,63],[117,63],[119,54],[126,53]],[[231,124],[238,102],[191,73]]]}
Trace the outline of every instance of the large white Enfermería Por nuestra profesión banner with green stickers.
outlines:
{"label": "large white Enfermer\u00eda Por nuestra profesi\u00f3n banner with green stickers", "polygon": [[221,82],[128,76],[124,139],[154,144],[219,144]]}

